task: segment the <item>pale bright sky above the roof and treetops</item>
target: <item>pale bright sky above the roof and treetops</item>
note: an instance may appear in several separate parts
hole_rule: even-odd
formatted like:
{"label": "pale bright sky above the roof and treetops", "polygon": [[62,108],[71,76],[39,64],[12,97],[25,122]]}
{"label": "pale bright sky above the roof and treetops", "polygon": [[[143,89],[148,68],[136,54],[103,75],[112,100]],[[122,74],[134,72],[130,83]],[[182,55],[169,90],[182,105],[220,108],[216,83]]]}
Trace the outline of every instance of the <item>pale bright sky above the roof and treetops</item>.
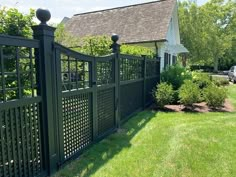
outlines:
{"label": "pale bright sky above the roof and treetops", "polygon": [[[50,22],[58,23],[64,16],[72,17],[77,13],[150,1],[153,0],[1,0],[0,6],[14,7],[23,13],[29,12],[30,8],[47,8],[52,14]],[[207,0],[197,0],[197,3],[201,5],[206,1]]]}

